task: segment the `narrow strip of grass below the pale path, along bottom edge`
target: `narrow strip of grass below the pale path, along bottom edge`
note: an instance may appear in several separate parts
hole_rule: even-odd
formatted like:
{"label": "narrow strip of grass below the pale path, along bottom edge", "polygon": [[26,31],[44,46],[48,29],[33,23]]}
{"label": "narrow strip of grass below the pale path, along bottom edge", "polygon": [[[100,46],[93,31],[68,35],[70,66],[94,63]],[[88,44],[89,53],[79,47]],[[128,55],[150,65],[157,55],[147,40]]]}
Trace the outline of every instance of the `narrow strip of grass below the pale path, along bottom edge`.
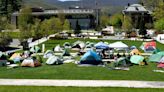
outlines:
{"label": "narrow strip of grass below the pale path, along bottom edge", "polygon": [[1,86],[0,92],[163,92],[164,89]]}

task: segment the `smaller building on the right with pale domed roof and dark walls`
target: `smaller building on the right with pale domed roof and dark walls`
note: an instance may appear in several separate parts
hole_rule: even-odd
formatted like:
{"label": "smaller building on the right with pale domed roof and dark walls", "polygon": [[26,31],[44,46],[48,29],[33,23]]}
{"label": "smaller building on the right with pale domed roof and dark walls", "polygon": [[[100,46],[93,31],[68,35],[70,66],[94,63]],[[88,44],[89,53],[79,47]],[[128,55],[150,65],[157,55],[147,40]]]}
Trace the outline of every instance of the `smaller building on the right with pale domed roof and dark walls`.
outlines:
{"label": "smaller building on the right with pale domed roof and dark walls", "polygon": [[143,19],[145,23],[153,23],[152,12],[141,4],[128,4],[122,12],[124,16],[128,15],[131,17],[134,28],[139,28],[141,19]]}

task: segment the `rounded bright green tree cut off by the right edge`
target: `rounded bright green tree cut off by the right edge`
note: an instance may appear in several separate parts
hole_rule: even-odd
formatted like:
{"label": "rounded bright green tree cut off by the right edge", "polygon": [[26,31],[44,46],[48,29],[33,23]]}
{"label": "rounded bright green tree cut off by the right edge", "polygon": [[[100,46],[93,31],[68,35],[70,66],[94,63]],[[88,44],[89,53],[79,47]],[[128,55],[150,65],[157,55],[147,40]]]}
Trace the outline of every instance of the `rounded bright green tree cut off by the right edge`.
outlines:
{"label": "rounded bright green tree cut off by the right edge", "polygon": [[154,27],[155,27],[155,29],[157,29],[158,32],[163,32],[163,30],[164,30],[163,25],[164,25],[164,18],[159,19],[154,23]]}

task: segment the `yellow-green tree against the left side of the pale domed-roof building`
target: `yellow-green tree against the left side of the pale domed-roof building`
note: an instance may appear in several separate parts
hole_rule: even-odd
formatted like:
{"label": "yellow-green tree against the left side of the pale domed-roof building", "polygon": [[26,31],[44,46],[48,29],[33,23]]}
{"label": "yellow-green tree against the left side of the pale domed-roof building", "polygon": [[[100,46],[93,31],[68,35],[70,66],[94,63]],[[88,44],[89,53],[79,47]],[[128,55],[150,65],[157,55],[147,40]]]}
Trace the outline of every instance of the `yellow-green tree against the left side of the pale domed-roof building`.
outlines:
{"label": "yellow-green tree against the left side of the pale domed-roof building", "polygon": [[122,28],[127,33],[131,32],[131,29],[133,28],[133,25],[132,25],[132,19],[129,16],[124,16]]}

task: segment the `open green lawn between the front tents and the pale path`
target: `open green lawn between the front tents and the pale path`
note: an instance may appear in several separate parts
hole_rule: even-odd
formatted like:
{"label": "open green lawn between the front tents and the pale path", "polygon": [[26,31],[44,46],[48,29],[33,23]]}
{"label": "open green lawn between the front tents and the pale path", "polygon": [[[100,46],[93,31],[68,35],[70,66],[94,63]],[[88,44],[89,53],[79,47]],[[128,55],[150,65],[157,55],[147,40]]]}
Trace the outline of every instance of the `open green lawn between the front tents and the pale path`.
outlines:
{"label": "open green lawn between the front tents and the pale path", "polygon": [[0,68],[0,78],[9,79],[82,79],[82,80],[147,80],[164,81],[163,73],[155,73],[156,64],[132,66],[130,71],[109,70],[107,67],[79,67],[75,64],[44,65],[15,69]]}

